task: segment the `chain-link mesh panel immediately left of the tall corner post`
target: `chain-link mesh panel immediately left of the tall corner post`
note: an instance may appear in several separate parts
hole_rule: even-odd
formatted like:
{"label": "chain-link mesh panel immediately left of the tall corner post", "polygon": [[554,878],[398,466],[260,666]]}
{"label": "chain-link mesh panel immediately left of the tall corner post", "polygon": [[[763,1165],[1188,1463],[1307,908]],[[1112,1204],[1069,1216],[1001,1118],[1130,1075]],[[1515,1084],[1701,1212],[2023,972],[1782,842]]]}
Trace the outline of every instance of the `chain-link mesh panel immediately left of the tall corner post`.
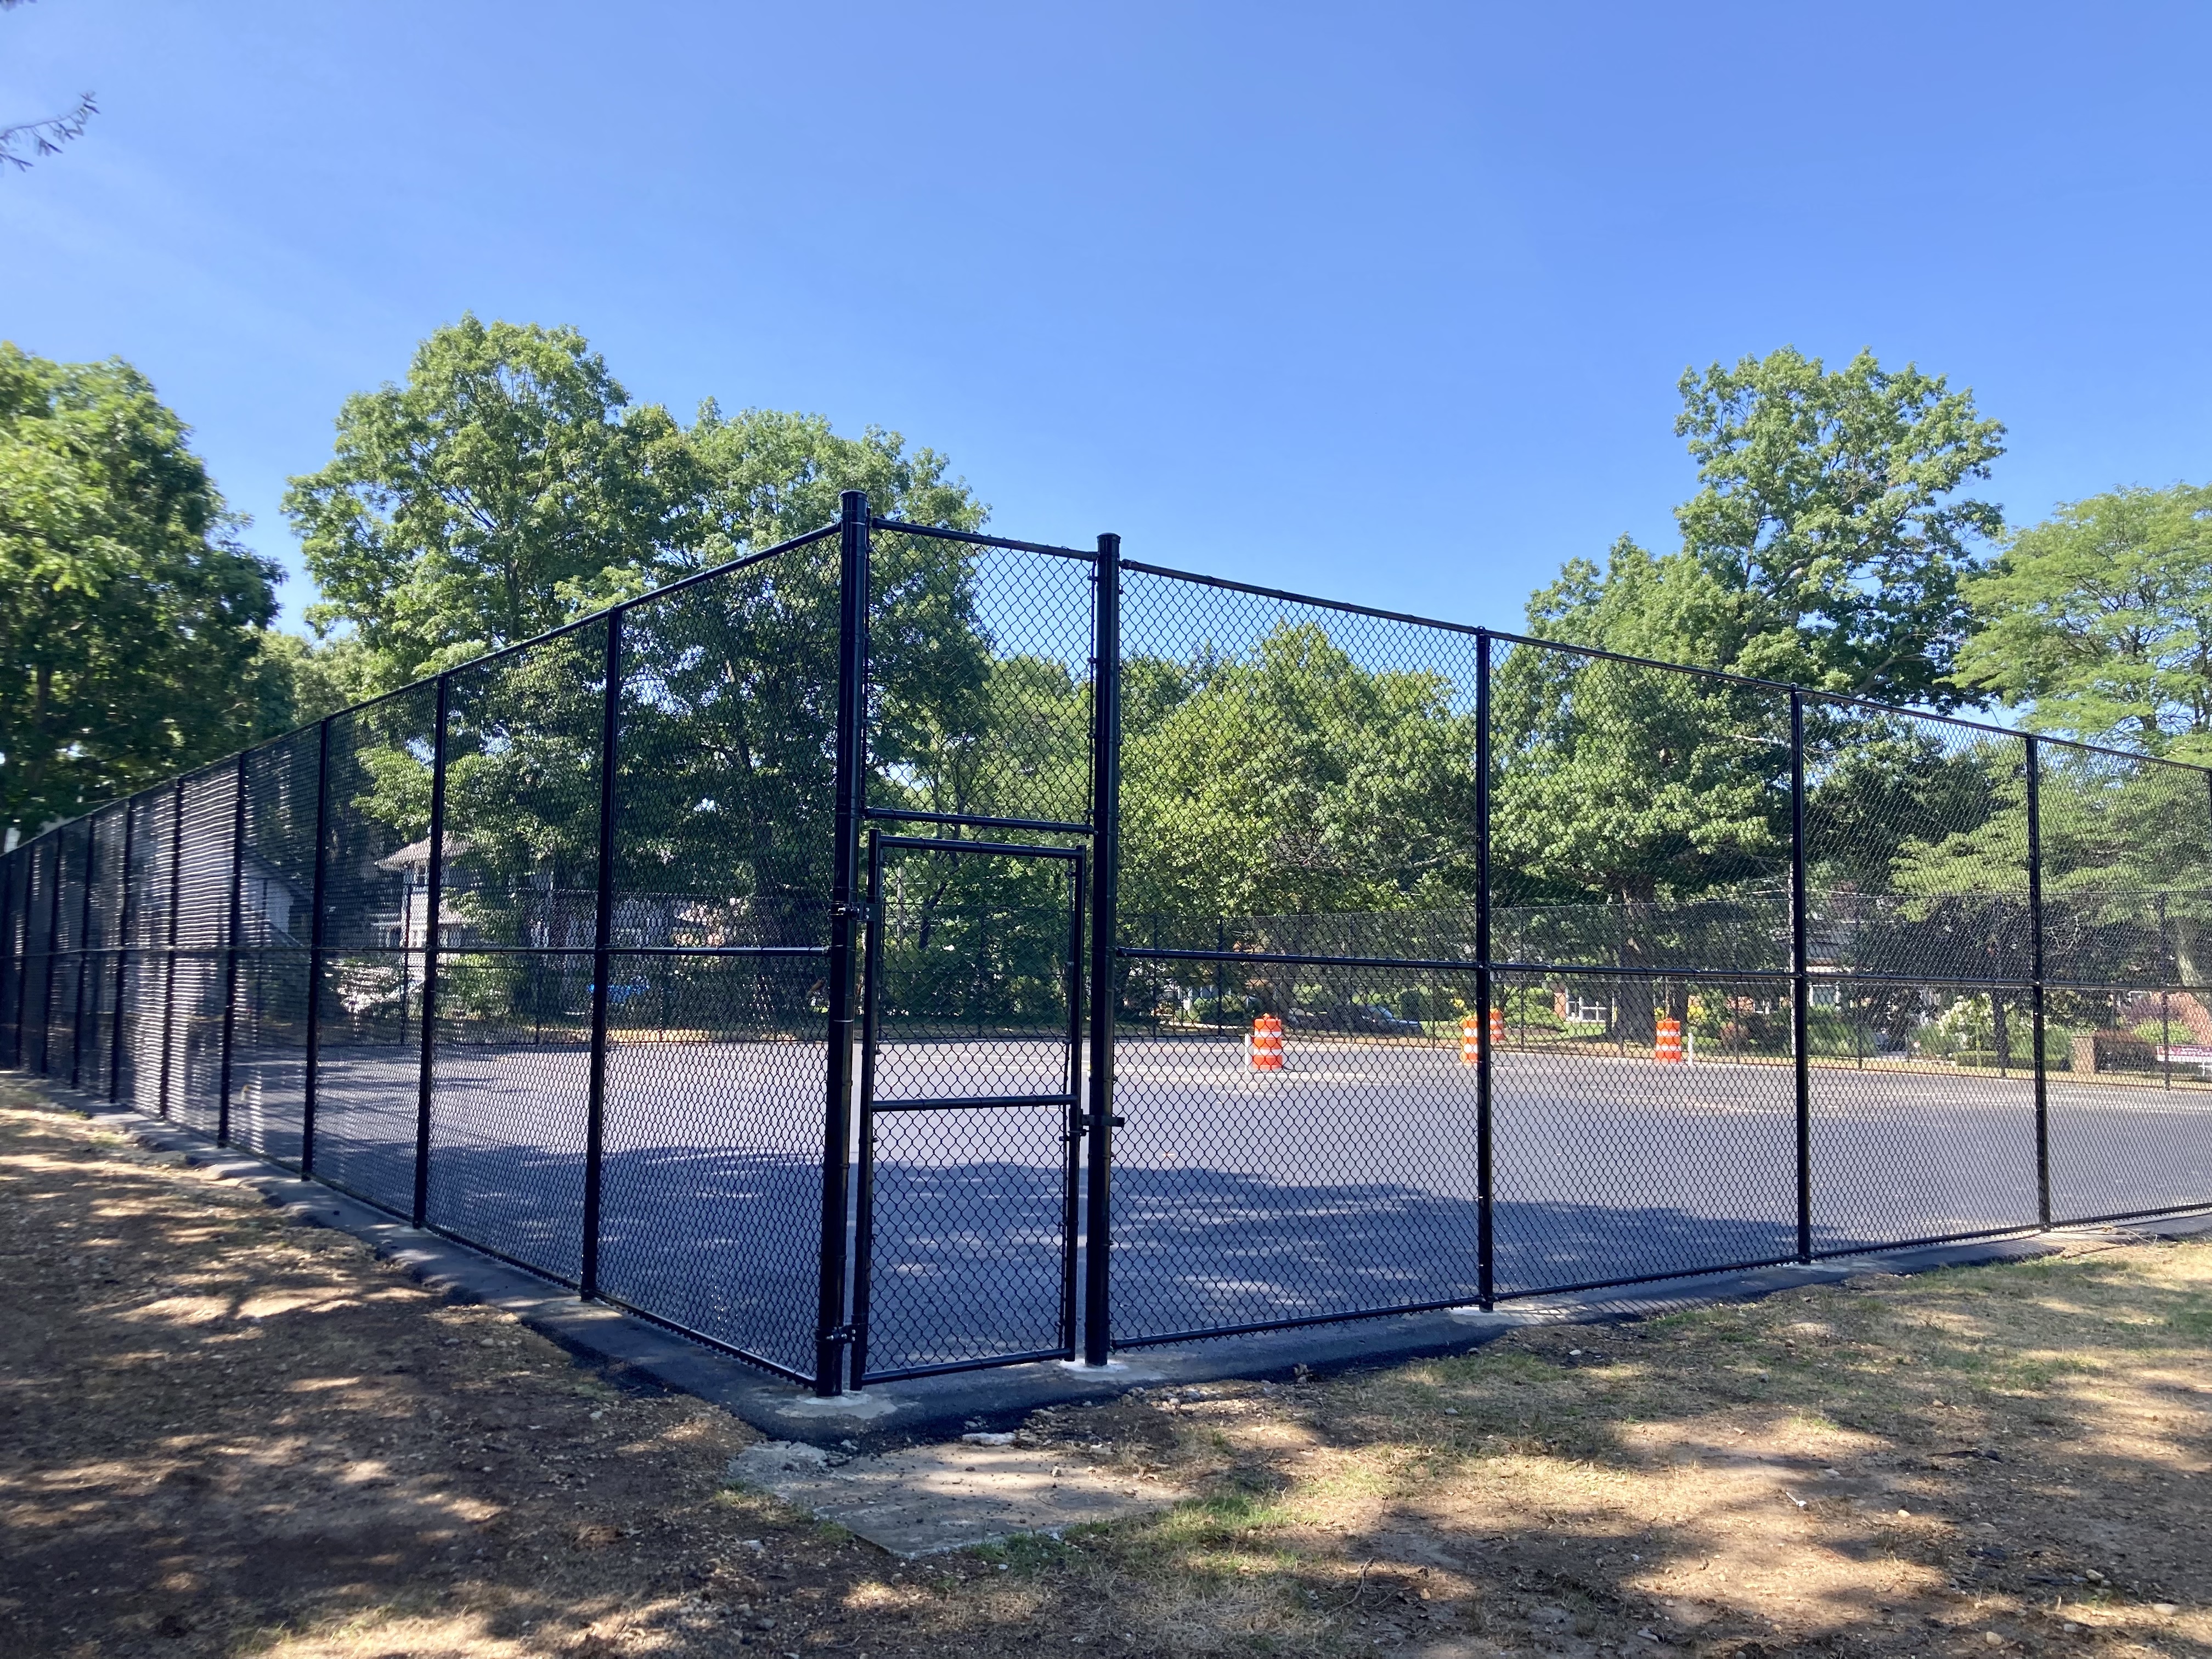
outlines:
{"label": "chain-link mesh panel immediately left of the tall corner post", "polygon": [[836,544],[628,608],[622,661],[599,1283],[810,1371]]}

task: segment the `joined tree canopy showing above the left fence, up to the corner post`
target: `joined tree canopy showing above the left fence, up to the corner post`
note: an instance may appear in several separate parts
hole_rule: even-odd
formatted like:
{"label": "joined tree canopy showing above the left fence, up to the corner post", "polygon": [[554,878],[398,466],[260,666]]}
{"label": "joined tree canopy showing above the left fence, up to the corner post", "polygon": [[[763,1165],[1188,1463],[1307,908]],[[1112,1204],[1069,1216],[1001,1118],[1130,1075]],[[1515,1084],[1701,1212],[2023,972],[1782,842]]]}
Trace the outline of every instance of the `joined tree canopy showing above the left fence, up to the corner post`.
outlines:
{"label": "joined tree canopy showing above the left fence, up to the corner post", "polygon": [[352,641],[338,666],[374,692],[814,529],[843,489],[925,524],[984,513],[898,434],[712,403],[686,429],[630,403],[577,330],[462,316],[405,385],[345,400],[285,513],[323,595],[307,619]]}

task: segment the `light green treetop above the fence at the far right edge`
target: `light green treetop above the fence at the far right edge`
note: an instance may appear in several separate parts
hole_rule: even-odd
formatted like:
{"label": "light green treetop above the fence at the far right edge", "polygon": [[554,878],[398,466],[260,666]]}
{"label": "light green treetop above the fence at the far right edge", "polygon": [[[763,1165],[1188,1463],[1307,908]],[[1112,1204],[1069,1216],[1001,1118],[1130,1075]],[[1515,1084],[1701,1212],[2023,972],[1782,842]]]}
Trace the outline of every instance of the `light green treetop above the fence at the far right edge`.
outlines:
{"label": "light green treetop above the fence at the far right edge", "polygon": [[2212,759],[2212,487],[2068,502],[1964,595],[1958,677],[2024,726]]}

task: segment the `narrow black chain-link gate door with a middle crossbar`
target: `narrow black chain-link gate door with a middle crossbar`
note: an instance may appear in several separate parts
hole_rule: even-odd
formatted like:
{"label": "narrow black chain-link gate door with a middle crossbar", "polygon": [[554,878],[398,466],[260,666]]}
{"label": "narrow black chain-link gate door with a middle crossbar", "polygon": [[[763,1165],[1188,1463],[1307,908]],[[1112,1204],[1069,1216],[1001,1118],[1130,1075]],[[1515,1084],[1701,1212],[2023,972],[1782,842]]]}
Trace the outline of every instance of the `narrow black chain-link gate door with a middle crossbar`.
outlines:
{"label": "narrow black chain-link gate door with a middle crossbar", "polygon": [[1084,854],[869,834],[856,1383],[1075,1356]]}

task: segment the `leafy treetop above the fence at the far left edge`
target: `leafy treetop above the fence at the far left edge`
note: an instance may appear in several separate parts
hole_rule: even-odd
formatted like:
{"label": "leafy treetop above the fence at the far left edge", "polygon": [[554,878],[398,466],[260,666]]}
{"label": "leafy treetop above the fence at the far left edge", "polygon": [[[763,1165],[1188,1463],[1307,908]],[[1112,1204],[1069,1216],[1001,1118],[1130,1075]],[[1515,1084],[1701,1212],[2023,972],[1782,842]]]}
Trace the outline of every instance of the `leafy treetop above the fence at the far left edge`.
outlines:
{"label": "leafy treetop above the fence at the far left edge", "polygon": [[279,568],[126,363],[0,345],[0,825],[22,832],[290,719]]}

